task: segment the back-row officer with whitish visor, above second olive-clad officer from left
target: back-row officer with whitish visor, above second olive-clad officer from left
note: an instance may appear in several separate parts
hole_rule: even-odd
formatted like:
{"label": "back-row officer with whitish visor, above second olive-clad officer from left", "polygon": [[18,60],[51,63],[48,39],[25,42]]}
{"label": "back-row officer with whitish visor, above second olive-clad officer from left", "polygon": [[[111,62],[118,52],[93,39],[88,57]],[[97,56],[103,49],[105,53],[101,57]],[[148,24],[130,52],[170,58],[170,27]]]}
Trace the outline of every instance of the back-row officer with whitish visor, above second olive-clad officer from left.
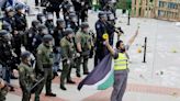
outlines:
{"label": "back-row officer with whitish visor, above second olive-clad officer from left", "polygon": [[50,35],[53,35],[54,29],[55,29],[53,18],[54,18],[53,14],[52,13],[48,13],[47,14],[47,20],[45,21],[45,26],[48,29],[48,33]]}

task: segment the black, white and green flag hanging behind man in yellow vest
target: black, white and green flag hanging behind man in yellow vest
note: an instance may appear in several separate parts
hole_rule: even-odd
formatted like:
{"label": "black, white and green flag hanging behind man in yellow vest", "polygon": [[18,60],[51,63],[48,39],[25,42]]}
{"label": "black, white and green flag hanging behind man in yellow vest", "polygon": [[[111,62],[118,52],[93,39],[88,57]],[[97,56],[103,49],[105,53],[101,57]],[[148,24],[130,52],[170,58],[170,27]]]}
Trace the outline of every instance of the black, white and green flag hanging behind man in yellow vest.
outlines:
{"label": "black, white and green flag hanging behind man in yellow vest", "polygon": [[83,86],[92,87],[98,90],[105,90],[112,87],[114,74],[112,68],[112,56],[106,55],[101,63],[79,83],[78,90]]}

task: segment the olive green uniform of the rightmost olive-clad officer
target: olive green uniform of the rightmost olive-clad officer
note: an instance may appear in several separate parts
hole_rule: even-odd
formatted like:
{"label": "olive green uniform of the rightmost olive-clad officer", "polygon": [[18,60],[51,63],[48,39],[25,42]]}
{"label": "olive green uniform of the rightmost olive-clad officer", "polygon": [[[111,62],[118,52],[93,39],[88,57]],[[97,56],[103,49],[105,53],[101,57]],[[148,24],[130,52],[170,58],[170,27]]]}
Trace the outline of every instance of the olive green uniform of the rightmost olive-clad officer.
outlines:
{"label": "olive green uniform of the rightmost olive-clad officer", "polygon": [[89,59],[89,54],[91,50],[92,46],[92,40],[89,33],[83,33],[81,30],[79,30],[76,34],[76,43],[80,43],[81,45],[81,56],[77,60],[77,74],[80,74],[80,65],[82,61],[82,67],[83,67],[83,74],[89,72],[88,70],[88,59]]}

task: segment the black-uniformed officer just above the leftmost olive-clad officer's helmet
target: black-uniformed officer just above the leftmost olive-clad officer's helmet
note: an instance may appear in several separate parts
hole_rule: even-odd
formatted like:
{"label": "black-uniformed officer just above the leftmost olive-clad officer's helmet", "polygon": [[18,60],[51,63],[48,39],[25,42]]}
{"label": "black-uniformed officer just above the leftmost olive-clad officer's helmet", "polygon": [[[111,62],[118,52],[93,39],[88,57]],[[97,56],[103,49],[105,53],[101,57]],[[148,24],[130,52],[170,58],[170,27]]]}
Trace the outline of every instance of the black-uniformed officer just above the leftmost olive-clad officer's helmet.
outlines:
{"label": "black-uniformed officer just above the leftmost olive-clad officer's helmet", "polygon": [[34,55],[35,55],[34,45],[32,43],[35,35],[38,34],[38,25],[40,25],[40,21],[33,20],[30,30],[27,30],[24,34],[24,41],[23,41],[25,48],[31,53],[33,53]]}

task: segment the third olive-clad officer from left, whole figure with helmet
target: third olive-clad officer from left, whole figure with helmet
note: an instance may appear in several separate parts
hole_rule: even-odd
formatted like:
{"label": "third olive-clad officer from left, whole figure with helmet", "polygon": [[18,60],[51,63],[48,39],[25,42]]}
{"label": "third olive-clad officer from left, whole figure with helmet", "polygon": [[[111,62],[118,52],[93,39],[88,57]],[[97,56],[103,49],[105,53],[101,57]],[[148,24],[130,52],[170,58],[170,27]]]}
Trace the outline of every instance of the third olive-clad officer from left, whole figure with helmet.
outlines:
{"label": "third olive-clad officer from left, whole figure with helmet", "polygon": [[75,83],[75,81],[71,80],[70,74],[71,68],[74,67],[74,58],[76,54],[75,49],[75,43],[72,41],[74,37],[74,31],[71,29],[65,30],[65,37],[60,41],[60,47],[61,47],[61,61],[63,61],[63,71],[60,76],[60,89],[66,90],[65,87],[65,79],[67,79],[68,83]]}

